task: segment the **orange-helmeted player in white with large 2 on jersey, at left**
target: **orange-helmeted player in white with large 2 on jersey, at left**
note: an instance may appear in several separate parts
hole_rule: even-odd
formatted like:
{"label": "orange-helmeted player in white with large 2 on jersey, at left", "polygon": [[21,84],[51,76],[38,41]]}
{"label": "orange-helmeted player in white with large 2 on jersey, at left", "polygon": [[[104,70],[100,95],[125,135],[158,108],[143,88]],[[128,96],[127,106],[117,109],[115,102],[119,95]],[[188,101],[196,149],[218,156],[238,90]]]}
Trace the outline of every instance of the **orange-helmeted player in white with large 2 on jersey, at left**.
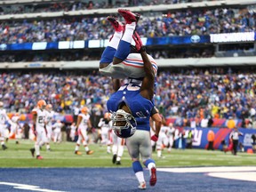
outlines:
{"label": "orange-helmeted player in white with large 2 on jersey, at left", "polygon": [[33,115],[33,131],[36,136],[35,148],[30,148],[32,156],[35,156],[36,159],[41,160],[43,156],[40,156],[40,145],[43,145],[47,142],[46,137],[46,127],[45,127],[45,118],[46,118],[46,101],[39,100],[37,102],[37,108],[32,110]]}

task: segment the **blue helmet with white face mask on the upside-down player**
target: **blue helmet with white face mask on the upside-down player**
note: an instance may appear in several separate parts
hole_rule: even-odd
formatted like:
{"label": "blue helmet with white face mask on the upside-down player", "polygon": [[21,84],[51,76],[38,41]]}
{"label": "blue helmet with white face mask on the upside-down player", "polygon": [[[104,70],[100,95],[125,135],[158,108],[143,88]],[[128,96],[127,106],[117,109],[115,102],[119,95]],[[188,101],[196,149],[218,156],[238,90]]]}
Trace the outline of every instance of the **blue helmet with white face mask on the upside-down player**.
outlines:
{"label": "blue helmet with white face mask on the upside-down player", "polygon": [[113,122],[112,129],[120,138],[129,138],[136,131],[137,122],[135,118],[123,109],[118,109],[114,112],[111,120]]}

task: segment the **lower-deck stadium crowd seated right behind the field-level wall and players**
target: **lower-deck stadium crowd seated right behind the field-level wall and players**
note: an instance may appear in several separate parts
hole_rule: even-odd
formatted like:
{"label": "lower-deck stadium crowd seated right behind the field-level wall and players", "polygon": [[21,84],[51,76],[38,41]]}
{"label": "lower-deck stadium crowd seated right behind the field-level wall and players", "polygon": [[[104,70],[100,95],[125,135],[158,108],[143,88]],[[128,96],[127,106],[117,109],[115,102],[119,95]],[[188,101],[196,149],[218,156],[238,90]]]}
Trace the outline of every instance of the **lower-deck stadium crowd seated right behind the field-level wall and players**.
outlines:
{"label": "lower-deck stadium crowd seated right behind the field-level wall and players", "polygon": [[[241,69],[242,70],[242,69]],[[164,116],[254,118],[256,75],[253,68],[171,68],[160,71],[156,107]],[[250,71],[251,70],[251,71]],[[0,100],[9,112],[29,113],[44,99],[62,114],[87,106],[101,116],[111,92],[110,79],[97,71],[1,73]]]}

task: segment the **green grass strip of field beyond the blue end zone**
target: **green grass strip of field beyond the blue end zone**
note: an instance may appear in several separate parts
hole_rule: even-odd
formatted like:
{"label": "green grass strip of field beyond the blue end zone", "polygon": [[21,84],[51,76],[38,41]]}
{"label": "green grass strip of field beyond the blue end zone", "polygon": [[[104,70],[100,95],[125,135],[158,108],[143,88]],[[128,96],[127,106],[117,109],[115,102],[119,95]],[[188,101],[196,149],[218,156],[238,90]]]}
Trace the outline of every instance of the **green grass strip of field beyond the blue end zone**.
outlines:
{"label": "green grass strip of field beyond the blue end zone", "polygon": [[[90,145],[94,154],[86,155],[84,148],[80,146],[82,156],[74,154],[75,142],[51,143],[52,151],[48,152],[45,146],[41,150],[43,160],[36,160],[31,156],[29,148],[34,146],[31,140],[20,140],[15,144],[14,140],[5,143],[6,150],[0,148],[0,167],[131,167],[132,161],[124,148],[124,156],[121,165],[112,164],[112,155],[107,154],[107,147],[99,144]],[[167,153],[163,151],[164,158],[158,158],[156,152],[153,158],[157,167],[184,167],[184,166],[228,166],[228,165],[255,165],[256,154],[238,152],[233,156],[230,152],[224,154],[220,150],[207,151],[204,149],[172,149]]]}

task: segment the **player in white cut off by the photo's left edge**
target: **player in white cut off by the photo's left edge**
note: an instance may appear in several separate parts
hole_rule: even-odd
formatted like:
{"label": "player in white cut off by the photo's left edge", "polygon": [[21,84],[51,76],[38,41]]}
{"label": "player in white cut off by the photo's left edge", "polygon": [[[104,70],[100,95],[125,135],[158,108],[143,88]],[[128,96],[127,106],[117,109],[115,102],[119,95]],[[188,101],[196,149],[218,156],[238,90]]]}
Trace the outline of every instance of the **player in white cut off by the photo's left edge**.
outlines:
{"label": "player in white cut off by the photo's left edge", "polygon": [[11,119],[9,118],[9,116],[7,116],[6,110],[4,109],[4,103],[0,101],[0,141],[3,150],[7,148],[4,143],[6,121],[8,122],[8,124],[12,124]]}

